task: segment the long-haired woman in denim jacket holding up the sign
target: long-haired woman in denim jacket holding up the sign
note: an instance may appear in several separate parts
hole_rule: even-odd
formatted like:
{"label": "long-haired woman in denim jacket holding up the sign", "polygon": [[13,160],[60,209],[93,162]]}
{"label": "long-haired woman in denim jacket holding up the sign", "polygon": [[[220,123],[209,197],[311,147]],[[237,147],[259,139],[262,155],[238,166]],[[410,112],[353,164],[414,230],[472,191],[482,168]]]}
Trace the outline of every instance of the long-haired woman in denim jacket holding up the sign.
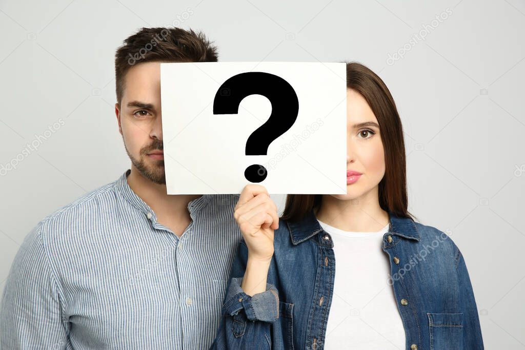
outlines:
{"label": "long-haired woman in denim jacket holding up the sign", "polygon": [[244,188],[213,348],[482,349],[461,252],[407,211],[390,92],[354,62],[347,88],[347,194],[289,195],[279,220],[264,187]]}

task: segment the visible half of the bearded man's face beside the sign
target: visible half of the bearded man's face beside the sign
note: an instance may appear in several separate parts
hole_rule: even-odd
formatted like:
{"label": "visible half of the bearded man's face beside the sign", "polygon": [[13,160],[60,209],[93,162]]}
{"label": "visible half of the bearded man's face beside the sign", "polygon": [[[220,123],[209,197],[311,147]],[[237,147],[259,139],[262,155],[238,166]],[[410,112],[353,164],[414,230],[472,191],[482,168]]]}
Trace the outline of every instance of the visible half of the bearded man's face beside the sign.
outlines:
{"label": "visible half of the bearded man's face beside the sign", "polygon": [[165,185],[160,62],[139,63],[127,72],[122,101],[115,104],[115,112],[135,168],[153,183]]}

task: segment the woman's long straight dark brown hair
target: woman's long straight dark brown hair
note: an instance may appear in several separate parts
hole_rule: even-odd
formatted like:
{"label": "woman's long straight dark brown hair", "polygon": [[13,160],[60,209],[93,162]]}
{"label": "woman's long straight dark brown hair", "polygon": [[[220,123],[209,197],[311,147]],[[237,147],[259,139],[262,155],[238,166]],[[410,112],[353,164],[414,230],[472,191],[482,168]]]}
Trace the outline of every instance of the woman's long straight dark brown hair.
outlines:
{"label": "woman's long straight dark brown hair", "polygon": [[[379,183],[379,205],[398,217],[414,219],[408,213],[406,159],[403,127],[390,91],[379,76],[358,62],[346,63],[346,88],[359,92],[379,123],[385,153],[385,175]],[[282,219],[301,220],[321,205],[322,195],[290,194]]]}

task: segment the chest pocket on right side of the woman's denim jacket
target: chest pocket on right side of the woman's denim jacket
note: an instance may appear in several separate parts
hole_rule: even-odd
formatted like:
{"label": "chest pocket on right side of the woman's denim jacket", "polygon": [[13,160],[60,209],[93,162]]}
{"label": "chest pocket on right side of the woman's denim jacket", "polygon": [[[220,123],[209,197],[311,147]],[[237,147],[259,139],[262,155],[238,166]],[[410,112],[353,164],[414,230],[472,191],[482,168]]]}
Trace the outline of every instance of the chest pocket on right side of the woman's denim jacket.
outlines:
{"label": "chest pocket on right side of the woman's denim jacket", "polygon": [[430,350],[463,349],[463,313],[438,314],[427,312]]}

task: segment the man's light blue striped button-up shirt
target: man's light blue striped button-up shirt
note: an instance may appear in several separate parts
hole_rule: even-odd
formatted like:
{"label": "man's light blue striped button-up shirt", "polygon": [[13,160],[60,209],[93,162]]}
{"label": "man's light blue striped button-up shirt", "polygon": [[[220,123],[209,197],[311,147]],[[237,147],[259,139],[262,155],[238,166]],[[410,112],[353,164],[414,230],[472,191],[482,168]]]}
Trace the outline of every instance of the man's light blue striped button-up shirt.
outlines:
{"label": "man's light blue striped button-up shirt", "polygon": [[207,349],[241,232],[238,195],[188,204],[178,238],[126,178],[41,220],[16,254],[2,349]]}

